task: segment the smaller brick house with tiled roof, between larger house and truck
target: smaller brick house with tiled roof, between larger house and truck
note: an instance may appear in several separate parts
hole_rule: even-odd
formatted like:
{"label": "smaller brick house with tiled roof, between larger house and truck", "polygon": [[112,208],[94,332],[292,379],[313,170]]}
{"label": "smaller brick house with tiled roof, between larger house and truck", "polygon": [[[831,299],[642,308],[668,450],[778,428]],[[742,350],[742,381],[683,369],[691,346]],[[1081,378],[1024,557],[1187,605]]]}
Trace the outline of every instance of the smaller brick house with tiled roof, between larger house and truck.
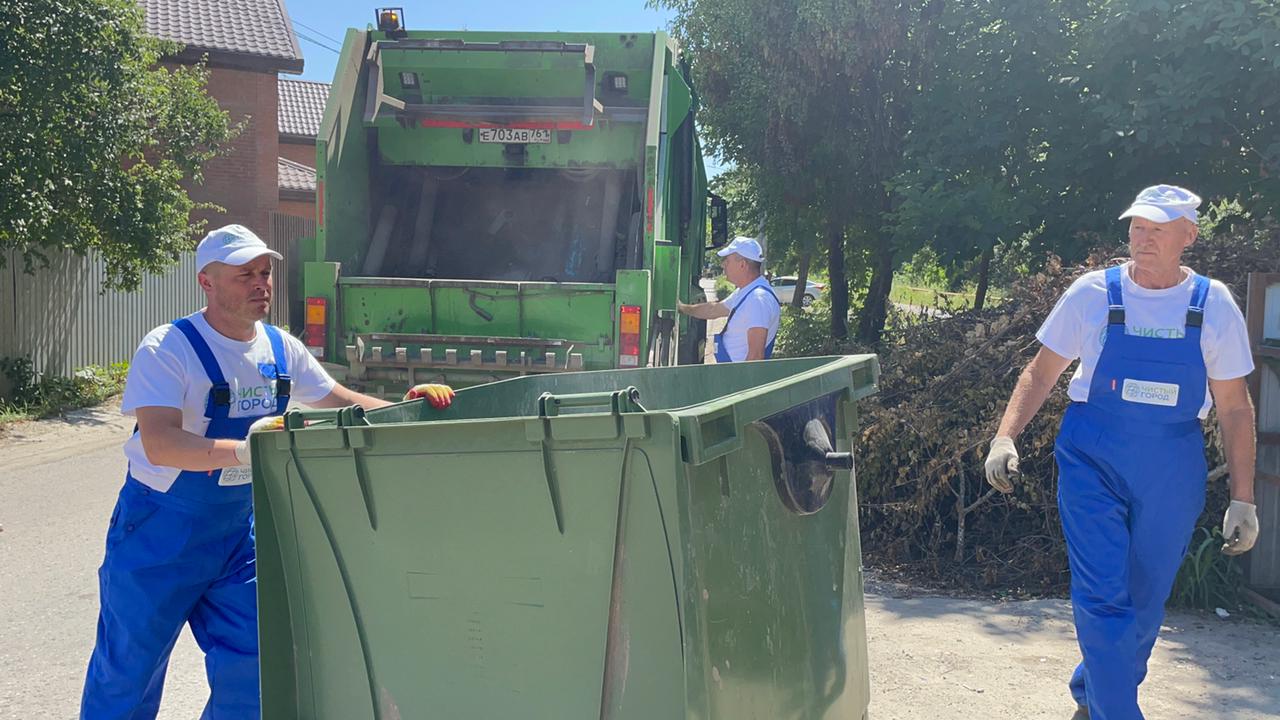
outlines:
{"label": "smaller brick house with tiled roof, between larger house and truck", "polygon": [[329,85],[279,78],[280,213],[315,218],[316,135],[329,99]]}

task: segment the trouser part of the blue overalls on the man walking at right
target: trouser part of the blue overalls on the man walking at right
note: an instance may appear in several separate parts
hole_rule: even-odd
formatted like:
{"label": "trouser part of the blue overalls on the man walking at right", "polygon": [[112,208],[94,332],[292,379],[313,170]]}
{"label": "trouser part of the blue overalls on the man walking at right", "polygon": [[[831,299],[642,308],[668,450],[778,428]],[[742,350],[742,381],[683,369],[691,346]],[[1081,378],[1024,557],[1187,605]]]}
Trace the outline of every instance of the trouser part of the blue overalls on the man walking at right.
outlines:
{"label": "trouser part of the blue overalls on the man walking at right", "polygon": [[1138,685],[1165,601],[1204,509],[1204,445],[1134,434],[1073,405],[1055,446],[1059,512],[1083,662],[1071,676],[1092,720],[1142,720]]}

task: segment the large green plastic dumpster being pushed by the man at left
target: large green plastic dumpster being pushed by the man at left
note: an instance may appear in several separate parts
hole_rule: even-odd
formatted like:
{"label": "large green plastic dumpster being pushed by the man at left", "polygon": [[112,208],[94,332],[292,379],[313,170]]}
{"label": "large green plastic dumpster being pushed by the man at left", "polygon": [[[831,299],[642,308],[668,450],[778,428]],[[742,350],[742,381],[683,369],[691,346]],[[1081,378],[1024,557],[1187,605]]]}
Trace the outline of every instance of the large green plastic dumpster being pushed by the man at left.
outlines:
{"label": "large green plastic dumpster being pushed by the man at left", "polygon": [[252,441],[262,717],[864,717],[850,452],[877,375],[803,357],[291,413]]}

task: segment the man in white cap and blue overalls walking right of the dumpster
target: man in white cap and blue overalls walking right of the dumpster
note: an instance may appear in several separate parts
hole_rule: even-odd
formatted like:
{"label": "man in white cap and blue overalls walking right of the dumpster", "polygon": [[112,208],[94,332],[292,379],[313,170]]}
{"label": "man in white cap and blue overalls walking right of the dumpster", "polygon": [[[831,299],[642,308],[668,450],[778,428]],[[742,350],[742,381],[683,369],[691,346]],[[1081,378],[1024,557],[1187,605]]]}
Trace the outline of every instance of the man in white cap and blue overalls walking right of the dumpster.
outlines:
{"label": "man in white cap and blue overalls walking right of the dumpster", "polygon": [[1084,274],[1059,300],[987,455],[988,482],[1011,492],[1014,439],[1079,359],[1053,450],[1083,656],[1069,683],[1078,719],[1143,717],[1138,685],[1204,507],[1201,420],[1215,402],[1231,496],[1222,552],[1258,537],[1244,318],[1225,284],[1181,264],[1199,202],[1169,184],[1138,193],[1120,215],[1130,260]]}

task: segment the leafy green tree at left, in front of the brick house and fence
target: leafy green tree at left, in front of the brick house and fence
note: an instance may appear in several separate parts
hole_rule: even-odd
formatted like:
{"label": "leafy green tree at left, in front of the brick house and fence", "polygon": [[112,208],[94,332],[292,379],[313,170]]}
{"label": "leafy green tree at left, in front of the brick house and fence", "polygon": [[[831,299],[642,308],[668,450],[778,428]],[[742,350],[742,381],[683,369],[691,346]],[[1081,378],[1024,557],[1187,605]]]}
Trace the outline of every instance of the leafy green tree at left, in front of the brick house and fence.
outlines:
{"label": "leafy green tree at left, in front of the brick house and fence", "polygon": [[[96,251],[136,288],[200,229],[183,188],[234,132],[201,67],[143,33],[134,0],[6,0],[0,13],[0,250],[27,270]],[[0,255],[0,264],[4,255]]]}

